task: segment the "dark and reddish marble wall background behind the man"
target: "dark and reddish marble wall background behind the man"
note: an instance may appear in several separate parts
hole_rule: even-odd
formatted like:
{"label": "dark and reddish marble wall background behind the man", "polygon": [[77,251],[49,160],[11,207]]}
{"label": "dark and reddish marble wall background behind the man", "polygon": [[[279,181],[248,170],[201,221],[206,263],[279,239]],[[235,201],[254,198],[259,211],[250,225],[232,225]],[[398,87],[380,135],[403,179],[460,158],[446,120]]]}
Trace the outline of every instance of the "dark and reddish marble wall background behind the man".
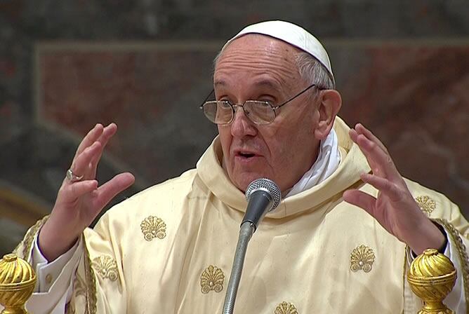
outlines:
{"label": "dark and reddish marble wall background behind the man", "polygon": [[340,116],[469,217],[466,0],[0,0],[0,254],[50,212],[95,123],[119,126],[100,182],[137,177],[114,203],[193,168],[216,135],[198,109],[213,57],[271,19],[315,34]]}

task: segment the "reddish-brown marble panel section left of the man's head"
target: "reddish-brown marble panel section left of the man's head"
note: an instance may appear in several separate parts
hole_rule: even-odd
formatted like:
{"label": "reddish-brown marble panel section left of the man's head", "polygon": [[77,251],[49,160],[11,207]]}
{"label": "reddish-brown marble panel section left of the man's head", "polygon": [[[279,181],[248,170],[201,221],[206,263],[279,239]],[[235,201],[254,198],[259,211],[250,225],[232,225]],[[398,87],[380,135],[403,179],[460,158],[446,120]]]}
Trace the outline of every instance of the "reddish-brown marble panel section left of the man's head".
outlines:
{"label": "reddish-brown marble panel section left of the man's head", "polygon": [[213,139],[199,105],[212,88],[216,51],[58,48],[39,55],[39,121],[77,138],[114,121],[119,131],[107,151],[140,183],[193,168]]}

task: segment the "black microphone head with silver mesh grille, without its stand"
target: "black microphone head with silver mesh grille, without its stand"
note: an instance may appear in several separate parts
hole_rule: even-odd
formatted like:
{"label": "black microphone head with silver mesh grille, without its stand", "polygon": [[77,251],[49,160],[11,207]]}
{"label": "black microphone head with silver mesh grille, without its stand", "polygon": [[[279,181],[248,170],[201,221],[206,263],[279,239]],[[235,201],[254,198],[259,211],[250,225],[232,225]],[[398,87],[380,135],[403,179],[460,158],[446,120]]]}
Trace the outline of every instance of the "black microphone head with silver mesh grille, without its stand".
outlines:
{"label": "black microphone head with silver mesh grille, without its stand", "polygon": [[241,224],[249,221],[256,231],[260,220],[267,212],[275,210],[282,199],[280,189],[270,179],[256,179],[246,189],[246,200],[248,207]]}

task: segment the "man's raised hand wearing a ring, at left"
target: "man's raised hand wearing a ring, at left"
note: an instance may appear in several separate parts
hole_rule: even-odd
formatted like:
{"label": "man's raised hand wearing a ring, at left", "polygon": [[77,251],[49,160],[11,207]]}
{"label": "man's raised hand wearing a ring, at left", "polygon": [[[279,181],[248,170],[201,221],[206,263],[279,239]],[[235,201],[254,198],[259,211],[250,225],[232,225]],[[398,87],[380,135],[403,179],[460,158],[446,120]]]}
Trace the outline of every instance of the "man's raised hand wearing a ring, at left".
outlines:
{"label": "man's raised hand wearing a ring, at left", "polygon": [[131,173],[125,172],[98,187],[96,169],[116,131],[114,123],[105,128],[97,124],[79,144],[70,166],[73,177],[62,182],[51,216],[39,233],[39,248],[48,261],[70,250],[103,207],[135,181]]}

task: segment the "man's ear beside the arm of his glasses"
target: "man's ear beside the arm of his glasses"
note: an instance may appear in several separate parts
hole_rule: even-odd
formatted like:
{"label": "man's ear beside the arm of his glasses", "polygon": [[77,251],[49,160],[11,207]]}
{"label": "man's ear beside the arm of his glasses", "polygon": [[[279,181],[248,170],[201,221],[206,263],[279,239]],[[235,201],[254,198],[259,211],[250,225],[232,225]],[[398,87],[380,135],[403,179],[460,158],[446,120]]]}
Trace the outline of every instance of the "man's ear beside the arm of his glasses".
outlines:
{"label": "man's ear beside the arm of his glasses", "polygon": [[342,97],[337,90],[320,90],[318,101],[319,121],[315,128],[315,137],[325,139],[331,132],[333,121],[341,109]]}

